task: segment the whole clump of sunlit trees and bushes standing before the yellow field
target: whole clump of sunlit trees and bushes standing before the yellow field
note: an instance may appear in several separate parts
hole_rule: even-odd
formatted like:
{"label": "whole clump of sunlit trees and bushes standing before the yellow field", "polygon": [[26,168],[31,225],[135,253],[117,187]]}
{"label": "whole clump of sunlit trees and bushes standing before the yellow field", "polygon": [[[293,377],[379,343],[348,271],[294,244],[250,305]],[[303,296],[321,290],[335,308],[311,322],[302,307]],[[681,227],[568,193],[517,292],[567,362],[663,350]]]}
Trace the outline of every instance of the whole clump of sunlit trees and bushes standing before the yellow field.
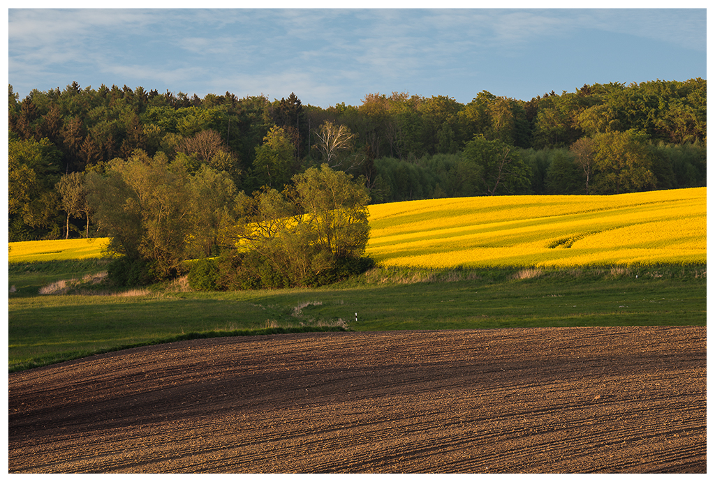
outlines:
{"label": "whole clump of sunlit trees and bushes standing before the yellow field", "polygon": [[204,288],[312,286],[368,266],[368,190],[327,164],[247,196],[226,171],[137,149],[65,184],[68,216],[87,206],[121,255],[109,268],[120,285],[172,278],[197,258],[212,258],[210,276],[190,280]]}

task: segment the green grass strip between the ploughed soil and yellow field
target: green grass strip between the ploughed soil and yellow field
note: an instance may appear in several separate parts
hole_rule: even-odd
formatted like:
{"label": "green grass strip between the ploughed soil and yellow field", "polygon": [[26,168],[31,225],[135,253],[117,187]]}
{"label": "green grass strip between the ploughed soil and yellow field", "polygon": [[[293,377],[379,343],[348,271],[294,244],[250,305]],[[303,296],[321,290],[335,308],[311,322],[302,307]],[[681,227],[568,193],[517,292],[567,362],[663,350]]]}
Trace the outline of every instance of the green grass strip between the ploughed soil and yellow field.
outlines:
{"label": "green grass strip between the ploughed soil and yellow field", "polygon": [[[524,271],[506,268],[375,268],[359,280],[315,289],[196,293],[163,286],[134,296],[18,291],[9,300],[9,369],[198,336],[318,329],[704,326],[705,271],[704,266],[589,268],[523,278]],[[22,284],[23,278],[18,272],[10,276],[11,283]]]}

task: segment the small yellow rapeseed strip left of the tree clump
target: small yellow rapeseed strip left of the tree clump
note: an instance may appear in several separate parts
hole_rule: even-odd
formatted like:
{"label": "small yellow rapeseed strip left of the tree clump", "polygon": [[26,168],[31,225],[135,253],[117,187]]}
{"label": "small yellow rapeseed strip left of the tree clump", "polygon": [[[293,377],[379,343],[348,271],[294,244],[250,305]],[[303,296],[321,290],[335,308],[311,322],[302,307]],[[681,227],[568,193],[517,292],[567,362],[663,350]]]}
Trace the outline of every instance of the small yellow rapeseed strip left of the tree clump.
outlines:
{"label": "small yellow rapeseed strip left of the tree clump", "polygon": [[9,243],[8,261],[55,261],[65,259],[99,258],[109,238],[55,239],[52,241],[19,241]]}

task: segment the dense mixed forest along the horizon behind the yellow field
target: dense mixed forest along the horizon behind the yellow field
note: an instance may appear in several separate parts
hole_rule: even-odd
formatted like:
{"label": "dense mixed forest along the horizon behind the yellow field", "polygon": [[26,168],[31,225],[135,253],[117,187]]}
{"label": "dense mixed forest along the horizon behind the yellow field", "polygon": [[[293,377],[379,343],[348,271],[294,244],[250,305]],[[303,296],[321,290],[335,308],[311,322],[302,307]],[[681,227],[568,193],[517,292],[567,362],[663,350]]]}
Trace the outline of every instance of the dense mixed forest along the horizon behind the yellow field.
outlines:
{"label": "dense mixed forest along the horizon behind the yellow field", "polygon": [[102,226],[70,207],[66,176],[157,156],[247,194],[327,164],[362,176],[373,203],[704,186],[706,81],[584,85],[529,101],[482,91],[468,104],[368,94],[327,109],[295,94],[201,99],[77,83],[20,100],[10,86],[10,241],[91,236]]}

